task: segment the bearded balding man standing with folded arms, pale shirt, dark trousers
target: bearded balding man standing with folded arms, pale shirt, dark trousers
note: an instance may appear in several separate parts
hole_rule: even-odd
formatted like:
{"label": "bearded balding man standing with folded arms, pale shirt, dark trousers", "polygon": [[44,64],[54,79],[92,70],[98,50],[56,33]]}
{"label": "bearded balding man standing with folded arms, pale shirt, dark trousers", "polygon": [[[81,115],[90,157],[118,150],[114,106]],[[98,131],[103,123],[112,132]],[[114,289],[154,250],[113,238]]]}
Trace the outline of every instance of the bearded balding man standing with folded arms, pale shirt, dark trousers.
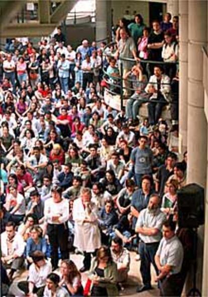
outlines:
{"label": "bearded balding man standing with folded arms, pale shirt, dark trousers", "polygon": [[162,237],[162,224],[165,215],[160,210],[160,198],[157,194],[152,194],[148,207],[140,212],[135,231],[139,233],[141,242],[139,244],[139,254],[141,258],[140,272],[143,279],[143,286],[137,288],[137,292],[142,292],[152,288],[150,265],[153,264],[156,273],[158,269],[155,264],[155,254]]}

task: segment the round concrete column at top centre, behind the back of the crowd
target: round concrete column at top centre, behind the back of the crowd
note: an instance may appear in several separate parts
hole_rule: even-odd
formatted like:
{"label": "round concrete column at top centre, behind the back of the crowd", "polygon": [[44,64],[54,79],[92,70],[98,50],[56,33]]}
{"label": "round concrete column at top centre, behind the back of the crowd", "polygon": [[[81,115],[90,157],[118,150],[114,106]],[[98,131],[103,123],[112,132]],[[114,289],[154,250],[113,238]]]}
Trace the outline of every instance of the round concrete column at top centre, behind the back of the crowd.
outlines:
{"label": "round concrete column at top centre, behind the back of the crowd", "polygon": [[108,36],[108,1],[96,0],[96,40],[102,40]]}

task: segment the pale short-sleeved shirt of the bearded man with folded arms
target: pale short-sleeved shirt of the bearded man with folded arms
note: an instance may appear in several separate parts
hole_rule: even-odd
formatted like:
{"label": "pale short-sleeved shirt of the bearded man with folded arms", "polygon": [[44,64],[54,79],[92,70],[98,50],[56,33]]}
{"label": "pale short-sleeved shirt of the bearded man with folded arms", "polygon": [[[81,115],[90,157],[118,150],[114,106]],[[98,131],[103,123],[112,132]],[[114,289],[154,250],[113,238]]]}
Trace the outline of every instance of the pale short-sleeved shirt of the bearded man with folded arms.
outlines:
{"label": "pale short-sleeved shirt of the bearded man with folded arms", "polygon": [[146,244],[158,243],[162,238],[161,229],[165,219],[166,216],[160,209],[158,209],[156,213],[150,212],[148,208],[143,209],[139,214],[136,228],[156,228],[159,230],[159,232],[156,235],[151,236],[139,234],[140,239]]}

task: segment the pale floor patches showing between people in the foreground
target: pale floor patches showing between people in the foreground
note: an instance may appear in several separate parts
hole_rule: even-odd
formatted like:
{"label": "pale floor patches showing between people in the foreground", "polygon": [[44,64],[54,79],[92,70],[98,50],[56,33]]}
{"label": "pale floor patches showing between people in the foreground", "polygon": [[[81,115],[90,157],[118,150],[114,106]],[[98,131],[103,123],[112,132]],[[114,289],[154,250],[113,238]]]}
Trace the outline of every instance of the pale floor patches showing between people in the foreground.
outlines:
{"label": "pale floor patches showing between people in the foreground", "polygon": [[[121,296],[137,296],[137,297],[151,297],[151,296],[158,296],[159,291],[157,289],[157,284],[154,282],[155,278],[155,271],[154,268],[152,268],[152,285],[153,289],[150,291],[145,291],[142,293],[136,293],[136,286],[141,283],[141,276],[140,276],[140,261],[135,261],[136,254],[134,252],[131,252],[131,265],[130,265],[130,271],[129,271],[129,278],[127,283],[124,285],[124,290],[120,292]],[[77,265],[78,268],[81,268],[82,266],[82,260],[83,257],[81,255],[70,255],[70,259],[74,261],[74,263]],[[17,287],[17,282],[20,280],[26,280],[27,279],[27,271],[22,271],[17,277],[15,278],[15,281],[11,285],[11,293],[13,295],[16,295],[18,297],[21,296],[21,291]],[[82,282],[85,283],[87,279],[87,272],[82,273]]]}

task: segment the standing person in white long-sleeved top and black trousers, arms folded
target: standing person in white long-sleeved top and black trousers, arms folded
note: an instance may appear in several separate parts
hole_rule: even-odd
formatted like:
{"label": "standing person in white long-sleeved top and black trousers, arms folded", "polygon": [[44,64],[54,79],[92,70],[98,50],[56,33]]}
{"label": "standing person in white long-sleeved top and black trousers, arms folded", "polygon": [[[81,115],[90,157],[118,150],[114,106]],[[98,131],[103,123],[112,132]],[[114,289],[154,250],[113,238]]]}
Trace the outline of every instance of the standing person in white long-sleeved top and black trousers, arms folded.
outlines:
{"label": "standing person in white long-sleeved top and black trousers, arms folded", "polygon": [[69,203],[62,199],[62,189],[53,187],[52,198],[45,201],[44,217],[47,222],[47,233],[51,246],[51,262],[53,270],[58,268],[58,248],[61,259],[68,259],[68,224]]}

